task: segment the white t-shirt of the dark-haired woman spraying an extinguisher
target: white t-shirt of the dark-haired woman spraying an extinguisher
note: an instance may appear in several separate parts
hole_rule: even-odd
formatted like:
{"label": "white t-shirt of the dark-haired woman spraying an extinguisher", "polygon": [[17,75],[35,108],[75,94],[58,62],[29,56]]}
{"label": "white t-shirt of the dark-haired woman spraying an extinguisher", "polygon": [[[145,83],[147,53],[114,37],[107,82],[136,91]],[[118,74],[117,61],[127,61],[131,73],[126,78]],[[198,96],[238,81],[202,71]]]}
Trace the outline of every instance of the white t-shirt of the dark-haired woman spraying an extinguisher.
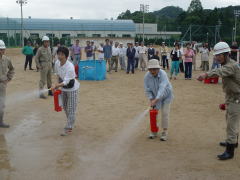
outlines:
{"label": "white t-shirt of the dark-haired woman spraying an extinguisher", "polygon": [[75,80],[72,88],[62,88],[62,91],[76,91],[79,89],[80,83],[75,79],[76,74],[74,65],[69,60],[62,66],[60,61],[57,60],[55,63],[55,72],[63,80],[64,85],[67,85],[72,79]]}

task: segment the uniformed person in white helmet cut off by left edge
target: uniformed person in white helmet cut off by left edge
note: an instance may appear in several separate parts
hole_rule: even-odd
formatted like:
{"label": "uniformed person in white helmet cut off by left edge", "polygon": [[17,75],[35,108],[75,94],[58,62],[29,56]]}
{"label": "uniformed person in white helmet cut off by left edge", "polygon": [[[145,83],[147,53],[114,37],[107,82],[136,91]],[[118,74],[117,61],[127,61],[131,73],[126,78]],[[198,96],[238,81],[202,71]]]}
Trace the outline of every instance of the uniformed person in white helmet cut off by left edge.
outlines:
{"label": "uniformed person in white helmet cut off by left edge", "polygon": [[14,67],[11,60],[5,56],[6,46],[0,40],[0,128],[9,128],[8,124],[3,122],[6,88],[7,84],[12,80],[14,75]]}

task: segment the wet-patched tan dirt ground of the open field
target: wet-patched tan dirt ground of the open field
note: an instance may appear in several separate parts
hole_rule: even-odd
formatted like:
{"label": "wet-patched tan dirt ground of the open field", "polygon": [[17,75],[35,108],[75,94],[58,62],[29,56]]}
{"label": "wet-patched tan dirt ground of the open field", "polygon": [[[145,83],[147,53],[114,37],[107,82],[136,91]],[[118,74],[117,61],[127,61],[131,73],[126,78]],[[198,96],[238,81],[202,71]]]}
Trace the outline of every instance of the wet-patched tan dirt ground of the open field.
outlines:
{"label": "wet-patched tan dirt ground of the open field", "polygon": [[119,71],[105,81],[81,81],[76,128],[61,137],[65,114],[53,110],[52,97],[31,97],[39,73],[23,71],[20,49],[6,55],[16,74],[7,89],[5,122],[11,128],[0,129],[1,180],[240,179],[238,149],[233,160],[216,158],[224,151],[218,143],[226,126],[218,109],[224,102],[221,84],[185,81],[183,74],[172,80],[169,139],[161,142],[147,138],[145,72]]}

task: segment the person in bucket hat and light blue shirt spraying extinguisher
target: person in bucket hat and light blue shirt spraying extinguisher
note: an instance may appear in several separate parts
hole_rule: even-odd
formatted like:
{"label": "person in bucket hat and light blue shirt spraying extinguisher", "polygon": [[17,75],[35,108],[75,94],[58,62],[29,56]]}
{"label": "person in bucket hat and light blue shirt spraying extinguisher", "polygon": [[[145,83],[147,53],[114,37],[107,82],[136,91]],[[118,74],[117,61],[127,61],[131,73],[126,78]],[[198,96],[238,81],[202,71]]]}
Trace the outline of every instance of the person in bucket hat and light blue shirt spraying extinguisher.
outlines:
{"label": "person in bucket hat and light blue shirt spraying extinguisher", "polygon": [[[168,135],[168,121],[170,114],[170,105],[173,100],[172,85],[168,80],[167,74],[160,69],[159,61],[151,59],[148,62],[148,72],[144,77],[144,89],[151,107],[161,109],[161,127],[162,133],[160,140],[166,141]],[[158,113],[157,119],[160,118]],[[156,133],[150,133],[149,138],[157,137]]]}

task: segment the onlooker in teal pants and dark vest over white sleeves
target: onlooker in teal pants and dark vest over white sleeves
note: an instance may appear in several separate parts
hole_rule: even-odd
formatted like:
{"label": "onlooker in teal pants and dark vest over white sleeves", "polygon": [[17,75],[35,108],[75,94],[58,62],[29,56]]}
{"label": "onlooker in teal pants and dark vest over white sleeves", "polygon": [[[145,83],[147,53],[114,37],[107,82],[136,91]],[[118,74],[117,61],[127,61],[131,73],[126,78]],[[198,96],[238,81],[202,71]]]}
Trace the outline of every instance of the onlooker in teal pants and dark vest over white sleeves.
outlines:
{"label": "onlooker in teal pants and dark vest over white sleeves", "polygon": [[172,79],[173,74],[174,80],[177,79],[177,75],[179,73],[179,60],[181,58],[181,51],[179,50],[179,44],[175,43],[174,49],[170,53],[172,59],[171,71],[170,71],[170,79]]}

